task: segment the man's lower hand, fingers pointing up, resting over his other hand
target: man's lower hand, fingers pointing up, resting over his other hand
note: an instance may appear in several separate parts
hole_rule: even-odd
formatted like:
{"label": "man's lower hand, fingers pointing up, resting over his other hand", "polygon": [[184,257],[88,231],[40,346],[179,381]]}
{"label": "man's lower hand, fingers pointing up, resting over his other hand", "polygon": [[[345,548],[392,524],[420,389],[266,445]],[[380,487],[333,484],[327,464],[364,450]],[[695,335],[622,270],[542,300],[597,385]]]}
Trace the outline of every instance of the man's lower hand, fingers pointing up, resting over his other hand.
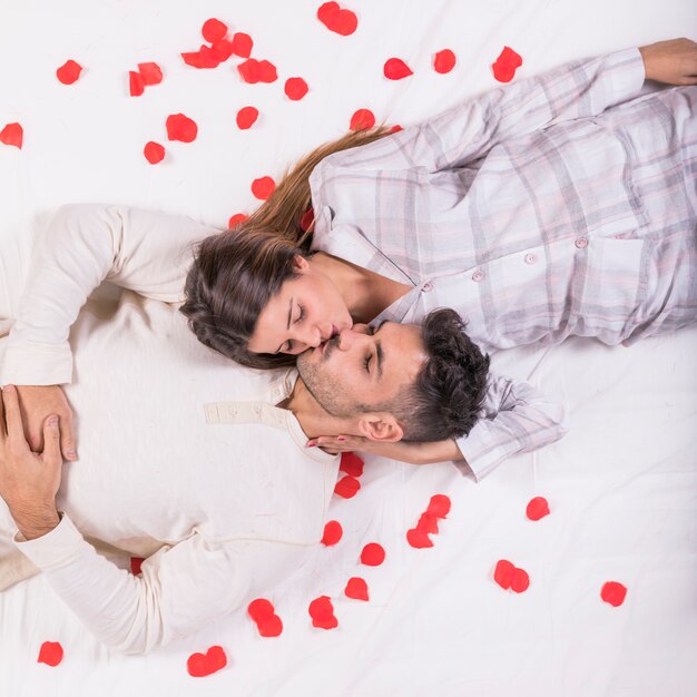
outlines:
{"label": "man's lower hand, fingers pointing up, resting over his other hand", "polygon": [[7,385],[0,399],[0,497],[10,509],[19,531],[28,539],[50,532],[60,518],[56,494],[62,459],[58,416],[43,423],[43,453],[31,452],[24,438],[17,389]]}

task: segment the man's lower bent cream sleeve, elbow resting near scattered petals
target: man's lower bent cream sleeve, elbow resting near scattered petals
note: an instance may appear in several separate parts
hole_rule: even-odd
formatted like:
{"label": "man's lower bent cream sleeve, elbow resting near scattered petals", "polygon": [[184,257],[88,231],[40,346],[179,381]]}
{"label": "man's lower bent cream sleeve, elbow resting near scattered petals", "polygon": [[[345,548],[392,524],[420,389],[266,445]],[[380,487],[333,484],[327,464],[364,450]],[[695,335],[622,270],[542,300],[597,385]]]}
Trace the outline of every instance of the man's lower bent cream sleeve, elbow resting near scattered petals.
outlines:
{"label": "man's lower bent cream sleeve, elbow resting near scattered petals", "polygon": [[151,649],[232,612],[252,593],[268,592],[307,547],[272,541],[210,542],[195,532],[146,559],[141,577],[99,556],[62,514],[43,537],[14,544],[105,645],[125,654]]}

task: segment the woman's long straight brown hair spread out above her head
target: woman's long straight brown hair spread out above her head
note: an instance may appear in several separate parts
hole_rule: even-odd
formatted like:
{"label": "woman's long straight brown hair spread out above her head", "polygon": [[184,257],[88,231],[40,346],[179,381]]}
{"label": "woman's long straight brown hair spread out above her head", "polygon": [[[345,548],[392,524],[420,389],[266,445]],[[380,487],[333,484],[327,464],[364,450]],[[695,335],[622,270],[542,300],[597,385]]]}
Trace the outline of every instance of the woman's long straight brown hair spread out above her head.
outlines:
{"label": "woman's long straight brown hair spread out above her head", "polygon": [[301,225],[312,206],[310,175],[328,155],[391,132],[384,126],[356,130],[315,148],[248,218],[198,245],[180,311],[202,343],[249,367],[295,363],[293,355],[252,353],[247,344],[268,301],[295,275],[295,257],[310,253],[314,226]]}

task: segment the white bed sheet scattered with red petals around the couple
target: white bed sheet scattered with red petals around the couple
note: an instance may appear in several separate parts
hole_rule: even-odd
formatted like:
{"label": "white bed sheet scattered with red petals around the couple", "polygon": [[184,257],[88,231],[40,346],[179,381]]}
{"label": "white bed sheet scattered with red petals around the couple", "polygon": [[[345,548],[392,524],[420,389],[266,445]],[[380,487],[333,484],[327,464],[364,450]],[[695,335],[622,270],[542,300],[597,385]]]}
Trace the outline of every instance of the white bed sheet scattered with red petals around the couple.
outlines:
{"label": "white bed sheet scattered with red petals around the couple", "polygon": [[[265,177],[281,177],[352,120],[413,124],[495,87],[492,63],[505,47],[522,58],[520,79],[697,38],[689,0],[29,0],[0,10],[0,334],[36,235],[65,203],[138,205],[225,227],[258,205]],[[261,81],[240,77],[244,38],[242,56],[195,67],[210,65],[200,47],[212,43],[202,28],[213,18],[230,37],[248,35],[251,56],[273,63],[277,79],[264,81],[263,67]],[[243,107],[258,110],[248,128],[254,112],[239,116]],[[168,139],[177,114],[196,122],[193,141]],[[150,141],[164,146],[161,161],[160,148],[144,153]],[[268,596],[278,637],[262,637],[240,608],[186,640],[121,656],[40,576],[17,585],[0,593],[0,695],[691,696],[696,352],[690,327],[629,348],[575,338],[493,355],[499,373],[562,400],[570,432],[480,483],[449,463],[365,455],[360,491],[335,495],[330,510],[342,539],[317,546]],[[436,494],[450,510],[440,511],[432,547],[415,548],[408,531]],[[361,562],[367,543],[385,550],[379,566]],[[345,595],[353,577],[365,580],[367,601]],[[321,596],[332,600],[334,629],[312,624]],[[62,647],[56,666],[38,660],[46,641]],[[192,676],[189,657],[210,647],[226,666]]]}

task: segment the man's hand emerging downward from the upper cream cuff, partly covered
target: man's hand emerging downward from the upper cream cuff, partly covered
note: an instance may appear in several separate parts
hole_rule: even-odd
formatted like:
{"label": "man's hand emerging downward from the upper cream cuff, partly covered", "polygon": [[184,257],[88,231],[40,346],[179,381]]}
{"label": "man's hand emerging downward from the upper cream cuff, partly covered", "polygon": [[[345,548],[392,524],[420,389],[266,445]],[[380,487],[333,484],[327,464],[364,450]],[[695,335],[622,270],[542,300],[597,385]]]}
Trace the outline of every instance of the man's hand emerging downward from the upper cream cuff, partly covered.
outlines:
{"label": "man's hand emerging downward from the upper cream cuff, partly covered", "polygon": [[35,452],[43,450],[43,423],[49,414],[58,416],[60,450],[63,459],[77,460],[72,410],[60,385],[17,385],[24,436]]}

